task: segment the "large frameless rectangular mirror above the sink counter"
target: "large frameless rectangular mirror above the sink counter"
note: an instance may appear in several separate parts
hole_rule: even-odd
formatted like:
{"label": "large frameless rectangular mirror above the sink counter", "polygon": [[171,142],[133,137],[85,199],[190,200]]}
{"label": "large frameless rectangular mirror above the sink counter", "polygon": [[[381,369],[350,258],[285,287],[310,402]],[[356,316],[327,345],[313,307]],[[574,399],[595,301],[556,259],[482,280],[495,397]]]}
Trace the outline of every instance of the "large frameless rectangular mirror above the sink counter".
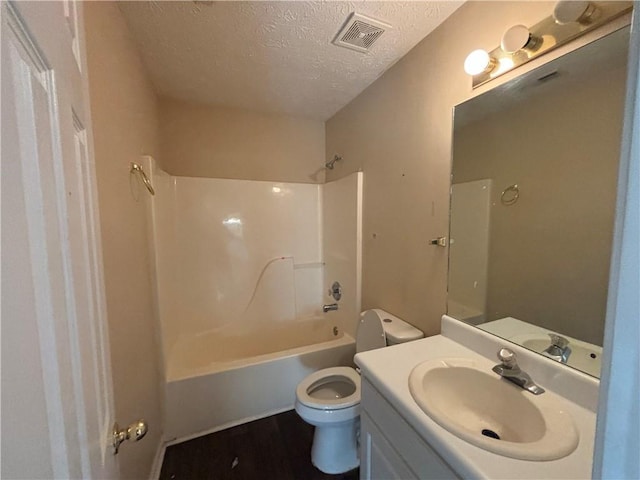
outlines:
{"label": "large frameless rectangular mirror above the sink counter", "polygon": [[623,28],[454,110],[448,314],[594,376],[628,42]]}

